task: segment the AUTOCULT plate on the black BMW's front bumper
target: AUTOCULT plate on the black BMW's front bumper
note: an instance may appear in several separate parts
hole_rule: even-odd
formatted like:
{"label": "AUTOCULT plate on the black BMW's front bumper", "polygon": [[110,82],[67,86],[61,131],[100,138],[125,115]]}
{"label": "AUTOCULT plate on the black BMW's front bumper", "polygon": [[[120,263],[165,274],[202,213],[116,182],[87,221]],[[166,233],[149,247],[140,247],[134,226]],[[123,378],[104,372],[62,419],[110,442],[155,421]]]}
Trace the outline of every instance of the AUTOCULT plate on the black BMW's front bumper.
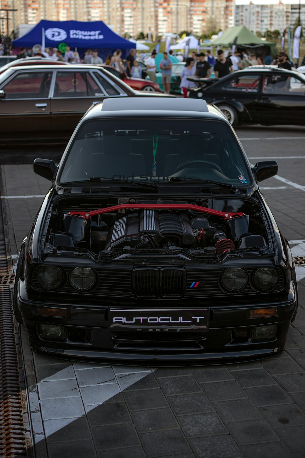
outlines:
{"label": "AUTOCULT plate on the black BMW's front bumper", "polygon": [[110,331],[208,331],[207,309],[112,309]]}

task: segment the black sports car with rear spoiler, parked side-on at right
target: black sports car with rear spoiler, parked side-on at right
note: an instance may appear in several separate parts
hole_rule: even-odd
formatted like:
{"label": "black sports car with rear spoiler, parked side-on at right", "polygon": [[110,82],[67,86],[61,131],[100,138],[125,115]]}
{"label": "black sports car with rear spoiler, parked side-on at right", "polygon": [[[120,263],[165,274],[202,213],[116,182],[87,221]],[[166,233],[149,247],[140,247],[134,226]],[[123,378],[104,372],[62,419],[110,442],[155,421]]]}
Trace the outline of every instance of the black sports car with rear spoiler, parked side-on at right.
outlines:
{"label": "black sports car with rear spoiler, parked side-on at right", "polygon": [[188,97],[216,105],[232,125],[305,125],[305,76],[274,66],[253,66],[219,80],[188,78],[199,87]]}

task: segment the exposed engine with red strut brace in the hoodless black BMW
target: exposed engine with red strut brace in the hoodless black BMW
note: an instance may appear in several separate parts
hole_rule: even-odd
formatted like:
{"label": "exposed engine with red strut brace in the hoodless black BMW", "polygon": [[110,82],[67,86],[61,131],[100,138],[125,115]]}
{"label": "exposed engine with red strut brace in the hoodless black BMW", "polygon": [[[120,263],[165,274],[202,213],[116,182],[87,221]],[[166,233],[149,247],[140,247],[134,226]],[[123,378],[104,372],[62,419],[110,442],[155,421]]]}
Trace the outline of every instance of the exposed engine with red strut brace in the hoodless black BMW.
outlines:
{"label": "exposed engine with red strut brace in the hoodless black BMW", "polygon": [[219,256],[236,248],[267,245],[263,225],[251,224],[249,215],[244,213],[233,213],[235,217],[225,213],[228,219],[224,220],[214,214],[176,208],[184,207],[182,204],[173,204],[170,209],[157,205],[154,209],[139,208],[141,205],[118,207],[124,208],[118,212],[112,211],[114,206],[88,213],[53,212],[56,218],[51,218],[47,244],[57,249],[85,249],[96,255],[175,248],[192,253],[205,249]]}

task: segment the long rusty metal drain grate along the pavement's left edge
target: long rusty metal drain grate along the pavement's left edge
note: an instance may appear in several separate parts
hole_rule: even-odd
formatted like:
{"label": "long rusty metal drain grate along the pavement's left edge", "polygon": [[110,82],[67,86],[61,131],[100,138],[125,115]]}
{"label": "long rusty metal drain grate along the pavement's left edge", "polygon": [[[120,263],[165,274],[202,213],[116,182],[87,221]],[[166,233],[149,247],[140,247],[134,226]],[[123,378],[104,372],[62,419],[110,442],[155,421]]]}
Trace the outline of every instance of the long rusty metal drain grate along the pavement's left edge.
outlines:
{"label": "long rusty metal drain grate along the pavement's left edge", "polygon": [[0,203],[0,457],[17,458],[29,456],[29,444],[24,435],[22,411],[26,411],[26,407],[21,397],[24,376],[17,353],[19,333],[11,305],[14,276],[7,257],[9,245],[2,205]]}

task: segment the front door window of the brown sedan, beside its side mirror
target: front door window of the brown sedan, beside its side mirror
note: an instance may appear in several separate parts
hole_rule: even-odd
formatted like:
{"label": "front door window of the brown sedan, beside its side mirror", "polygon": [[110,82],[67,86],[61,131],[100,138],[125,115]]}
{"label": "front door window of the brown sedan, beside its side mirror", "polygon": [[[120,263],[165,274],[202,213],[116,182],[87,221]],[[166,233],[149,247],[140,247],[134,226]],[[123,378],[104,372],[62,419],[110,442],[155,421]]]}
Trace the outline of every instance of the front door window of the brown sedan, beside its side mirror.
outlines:
{"label": "front door window of the brown sedan, beside its side mirror", "polygon": [[47,98],[52,72],[22,72],[2,87],[6,98]]}

